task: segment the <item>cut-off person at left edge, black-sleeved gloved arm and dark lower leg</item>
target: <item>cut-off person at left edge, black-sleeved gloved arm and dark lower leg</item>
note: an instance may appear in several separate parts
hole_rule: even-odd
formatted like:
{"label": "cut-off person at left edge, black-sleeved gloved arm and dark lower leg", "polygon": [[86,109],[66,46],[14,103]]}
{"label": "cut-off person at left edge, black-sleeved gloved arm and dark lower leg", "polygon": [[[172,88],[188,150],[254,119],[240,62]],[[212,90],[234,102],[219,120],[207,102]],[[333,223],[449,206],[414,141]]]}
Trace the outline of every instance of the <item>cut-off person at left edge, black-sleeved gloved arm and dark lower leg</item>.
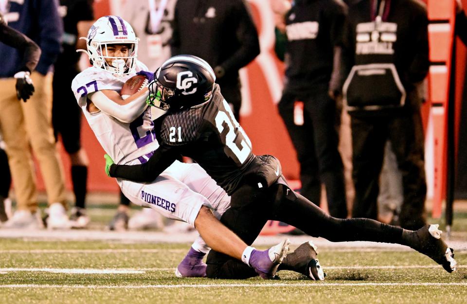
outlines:
{"label": "cut-off person at left edge, black-sleeved gloved arm and dark lower leg", "polygon": [[[40,48],[27,36],[9,27],[1,14],[1,10],[0,42],[18,49],[22,57],[19,72],[15,74],[15,88],[18,100],[23,99],[23,101],[26,101],[34,93],[34,84],[29,76],[39,61]],[[11,200],[8,198],[11,186],[11,174],[5,148],[5,143],[0,132],[0,225],[11,216]]]}

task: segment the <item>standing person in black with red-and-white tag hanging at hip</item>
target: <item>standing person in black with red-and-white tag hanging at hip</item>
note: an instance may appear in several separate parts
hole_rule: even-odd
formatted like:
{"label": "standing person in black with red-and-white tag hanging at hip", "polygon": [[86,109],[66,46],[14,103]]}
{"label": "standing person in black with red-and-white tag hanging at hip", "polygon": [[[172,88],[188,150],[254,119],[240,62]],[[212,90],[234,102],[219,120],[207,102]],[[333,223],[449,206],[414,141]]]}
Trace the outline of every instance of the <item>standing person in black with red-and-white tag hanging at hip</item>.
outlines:
{"label": "standing person in black with red-and-white tag hanging at hip", "polygon": [[271,4],[277,39],[286,43],[286,84],[278,107],[300,162],[301,194],[319,206],[323,182],[329,214],[346,218],[337,132],[346,6],[336,0]]}

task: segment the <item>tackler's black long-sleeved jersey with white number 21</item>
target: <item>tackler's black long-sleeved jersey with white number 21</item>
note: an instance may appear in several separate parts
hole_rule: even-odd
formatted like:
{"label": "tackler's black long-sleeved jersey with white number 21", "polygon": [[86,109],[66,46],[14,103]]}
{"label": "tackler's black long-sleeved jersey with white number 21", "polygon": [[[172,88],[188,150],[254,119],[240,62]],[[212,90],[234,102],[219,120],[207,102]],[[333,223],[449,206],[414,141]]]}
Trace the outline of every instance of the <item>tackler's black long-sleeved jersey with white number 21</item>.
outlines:
{"label": "tackler's black long-sleeved jersey with white number 21", "polygon": [[242,179],[260,171],[252,168],[258,166],[251,166],[258,159],[251,152],[250,139],[235,120],[218,85],[209,102],[163,117],[159,135],[161,145],[148,162],[112,165],[110,175],[135,181],[154,180],[181,154],[197,161],[219,186],[232,194]]}

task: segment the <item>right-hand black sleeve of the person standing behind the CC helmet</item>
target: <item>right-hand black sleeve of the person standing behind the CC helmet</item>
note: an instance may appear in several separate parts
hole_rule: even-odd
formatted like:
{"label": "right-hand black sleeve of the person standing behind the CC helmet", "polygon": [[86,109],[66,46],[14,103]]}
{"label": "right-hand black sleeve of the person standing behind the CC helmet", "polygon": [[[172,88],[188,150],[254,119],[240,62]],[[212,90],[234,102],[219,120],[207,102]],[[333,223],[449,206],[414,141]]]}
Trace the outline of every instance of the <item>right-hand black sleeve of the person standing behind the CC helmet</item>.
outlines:
{"label": "right-hand black sleeve of the person standing behind the CC helmet", "polygon": [[246,5],[248,4],[244,0],[235,1],[235,6],[231,13],[231,16],[234,16],[236,19],[237,29],[235,36],[237,41],[240,42],[240,47],[229,59],[220,64],[226,74],[240,70],[249,64],[260,52],[258,32]]}

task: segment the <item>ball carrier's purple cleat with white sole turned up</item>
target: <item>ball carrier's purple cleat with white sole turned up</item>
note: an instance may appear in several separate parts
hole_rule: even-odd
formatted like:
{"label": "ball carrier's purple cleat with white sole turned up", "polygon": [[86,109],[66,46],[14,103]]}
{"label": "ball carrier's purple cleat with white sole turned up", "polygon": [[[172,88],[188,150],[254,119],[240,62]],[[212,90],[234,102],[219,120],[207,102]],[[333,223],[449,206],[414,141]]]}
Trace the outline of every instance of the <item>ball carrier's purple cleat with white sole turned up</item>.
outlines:
{"label": "ball carrier's purple cleat with white sole turned up", "polygon": [[253,250],[250,256],[250,265],[256,273],[263,279],[272,279],[275,277],[277,268],[287,256],[289,239],[285,239],[276,246],[268,250]]}

